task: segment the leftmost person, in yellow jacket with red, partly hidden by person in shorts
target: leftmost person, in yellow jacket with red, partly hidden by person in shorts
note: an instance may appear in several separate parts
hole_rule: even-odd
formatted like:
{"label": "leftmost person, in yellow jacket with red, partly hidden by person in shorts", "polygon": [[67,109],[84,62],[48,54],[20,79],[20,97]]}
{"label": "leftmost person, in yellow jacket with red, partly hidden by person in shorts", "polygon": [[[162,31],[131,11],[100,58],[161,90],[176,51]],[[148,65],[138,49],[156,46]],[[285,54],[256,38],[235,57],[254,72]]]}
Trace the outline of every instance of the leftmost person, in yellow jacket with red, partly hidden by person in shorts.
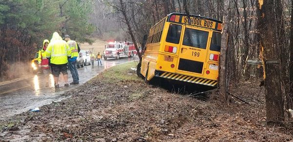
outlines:
{"label": "leftmost person, in yellow jacket with red, partly hidden by person in shorts", "polygon": [[49,67],[49,59],[47,59],[45,51],[46,51],[49,43],[50,42],[47,39],[45,39],[43,41],[43,48],[39,52],[39,56],[38,56],[39,67],[42,69],[42,72],[45,75],[45,80],[46,80],[46,85],[45,86],[46,87],[49,86],[50,67]]}

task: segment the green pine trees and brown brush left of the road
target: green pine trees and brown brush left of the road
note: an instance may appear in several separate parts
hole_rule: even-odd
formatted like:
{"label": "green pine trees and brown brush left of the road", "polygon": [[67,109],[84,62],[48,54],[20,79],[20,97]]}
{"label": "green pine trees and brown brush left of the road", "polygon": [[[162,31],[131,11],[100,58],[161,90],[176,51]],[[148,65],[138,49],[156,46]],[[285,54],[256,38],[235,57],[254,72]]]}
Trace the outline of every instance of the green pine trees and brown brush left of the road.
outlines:
{"label": "green pine trees and brown brush left of the road", "polygon": [[31,58],[55,31],[93,42],[92,11],[87,0],[0,0],[0,81],[27,75]]}

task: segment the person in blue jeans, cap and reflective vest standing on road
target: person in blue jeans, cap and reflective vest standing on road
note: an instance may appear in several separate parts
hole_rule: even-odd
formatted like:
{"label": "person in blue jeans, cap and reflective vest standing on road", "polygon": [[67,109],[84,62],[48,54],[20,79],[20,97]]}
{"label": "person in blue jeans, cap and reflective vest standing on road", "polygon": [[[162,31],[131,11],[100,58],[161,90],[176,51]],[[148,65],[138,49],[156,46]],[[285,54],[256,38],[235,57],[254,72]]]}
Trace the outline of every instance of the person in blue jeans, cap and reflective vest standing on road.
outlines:
{"label": "person in blue jeans, cap and reflective vest standing on road", "polygon": [[78,45],[76,41],[70,39],[69,35],[65,35],[64,40],[67,42],[71,50],[71,58],[68,59],[68,67],[72,75],[73,82],[71,82],[70,85],[79,84],[79,75],[77,71],[77,61],[76,61],[78,57],[78,53],[79,53]]}

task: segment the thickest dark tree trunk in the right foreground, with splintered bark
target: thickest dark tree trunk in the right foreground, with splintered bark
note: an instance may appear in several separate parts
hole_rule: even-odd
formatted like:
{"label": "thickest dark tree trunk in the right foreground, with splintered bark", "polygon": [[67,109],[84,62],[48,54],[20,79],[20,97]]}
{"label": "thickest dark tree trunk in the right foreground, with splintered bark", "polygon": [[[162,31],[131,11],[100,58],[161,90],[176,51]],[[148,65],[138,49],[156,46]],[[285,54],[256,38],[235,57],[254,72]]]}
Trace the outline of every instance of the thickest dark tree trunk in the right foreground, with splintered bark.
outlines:
{"label": "thickest dark tree trunk in the right foreground, with splintered bark", "polygon": [[[264,0],[263,5],[258,5],[261,16],[259,19],[260,44],[263,51],[263,60],[278,59],[280,47],[277,45],[274,23],[274,0]],[[265,89],[266,89],[266,117],[267,124],[278,124],[284,120],[283,98],[281,90],[280,66],[264,63]]]}

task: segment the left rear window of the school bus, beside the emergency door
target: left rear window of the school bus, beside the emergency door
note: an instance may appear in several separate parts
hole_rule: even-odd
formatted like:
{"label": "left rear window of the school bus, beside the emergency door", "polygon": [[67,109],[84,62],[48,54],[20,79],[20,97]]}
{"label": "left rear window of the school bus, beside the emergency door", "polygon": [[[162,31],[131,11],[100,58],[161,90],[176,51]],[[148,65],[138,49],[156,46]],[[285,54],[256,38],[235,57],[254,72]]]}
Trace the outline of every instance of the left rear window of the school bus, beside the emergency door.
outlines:
{"label": "left rear window of the school bus, beside the emergency door", "polygon": [[170,24],[166,41],[170,43],[178,44],[180,40],[181,29],[182,29],[181,25]]}

